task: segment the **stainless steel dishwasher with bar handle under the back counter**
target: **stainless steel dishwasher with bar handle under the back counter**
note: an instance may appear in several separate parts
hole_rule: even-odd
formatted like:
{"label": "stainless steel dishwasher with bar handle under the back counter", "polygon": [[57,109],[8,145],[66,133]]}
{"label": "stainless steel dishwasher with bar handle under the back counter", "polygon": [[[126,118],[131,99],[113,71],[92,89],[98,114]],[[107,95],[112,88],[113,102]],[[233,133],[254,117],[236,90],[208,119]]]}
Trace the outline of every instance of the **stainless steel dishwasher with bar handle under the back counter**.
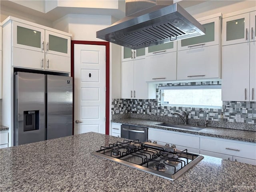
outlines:
{"label": "stainless steel dishwasher with bar handle under the back counter", "polygon": [[148,128],[132,125],[121,125],[121,137],[140,142],[148,141]]}

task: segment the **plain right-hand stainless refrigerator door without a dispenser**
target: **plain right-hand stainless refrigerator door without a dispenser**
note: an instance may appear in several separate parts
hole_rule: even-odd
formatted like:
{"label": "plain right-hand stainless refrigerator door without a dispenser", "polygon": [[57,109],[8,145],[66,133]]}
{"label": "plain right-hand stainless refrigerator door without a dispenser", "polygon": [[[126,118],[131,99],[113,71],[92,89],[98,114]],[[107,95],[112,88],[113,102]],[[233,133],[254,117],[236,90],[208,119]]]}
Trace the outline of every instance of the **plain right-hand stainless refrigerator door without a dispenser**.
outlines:
{"label": "plain right-hand stainless refrigerator door without a dispenser", "polygon": [[47,139],[72,135],[72,77],[47,75]]}

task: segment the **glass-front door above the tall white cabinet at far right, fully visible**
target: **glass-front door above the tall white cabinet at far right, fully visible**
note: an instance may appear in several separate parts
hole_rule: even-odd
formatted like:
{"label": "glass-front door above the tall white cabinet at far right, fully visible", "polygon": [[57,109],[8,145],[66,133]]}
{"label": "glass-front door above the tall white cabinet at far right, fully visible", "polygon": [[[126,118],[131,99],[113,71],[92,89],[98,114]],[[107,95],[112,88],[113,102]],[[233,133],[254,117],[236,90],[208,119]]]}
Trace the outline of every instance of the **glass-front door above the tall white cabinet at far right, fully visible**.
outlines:
{"label": "glass-front door above the tall white cabinet at far right, fully visible", "polygon": [[224,18],[222,23],[222,45],[250,41],[250,13]]}

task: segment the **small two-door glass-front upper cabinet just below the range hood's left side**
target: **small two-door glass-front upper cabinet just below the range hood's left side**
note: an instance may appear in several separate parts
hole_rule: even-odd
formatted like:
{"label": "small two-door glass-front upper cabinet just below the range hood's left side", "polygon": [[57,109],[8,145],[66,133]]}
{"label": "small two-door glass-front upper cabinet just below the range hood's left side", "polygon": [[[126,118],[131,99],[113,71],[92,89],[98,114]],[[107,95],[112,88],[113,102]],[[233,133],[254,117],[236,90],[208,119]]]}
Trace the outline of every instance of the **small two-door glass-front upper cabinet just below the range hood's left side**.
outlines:
{"label": "small two-door glass-front upper cabinet just below the range hood's left side", "polygon": [[131,49],[128,47],[122,47],[122,61],[130,61],[145,58],[145,48]]}

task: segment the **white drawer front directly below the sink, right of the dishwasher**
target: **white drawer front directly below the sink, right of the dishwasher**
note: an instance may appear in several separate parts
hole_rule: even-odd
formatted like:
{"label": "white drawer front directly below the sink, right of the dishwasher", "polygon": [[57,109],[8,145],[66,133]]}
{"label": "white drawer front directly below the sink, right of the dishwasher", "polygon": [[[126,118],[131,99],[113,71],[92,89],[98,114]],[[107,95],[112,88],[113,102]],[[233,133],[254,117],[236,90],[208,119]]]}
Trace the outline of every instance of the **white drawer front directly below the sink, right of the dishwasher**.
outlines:
{"label": "white drawer front directly below the sink, right of the dishwasher", "polygon": [[189,146],[190,148],[199,149],[199,140],[198,136],[190,136],[186,134],[178,134],[166,130],[148,130],[148,138],[153,141],[161,141],[168,144],[174,144],[179,146]]}

